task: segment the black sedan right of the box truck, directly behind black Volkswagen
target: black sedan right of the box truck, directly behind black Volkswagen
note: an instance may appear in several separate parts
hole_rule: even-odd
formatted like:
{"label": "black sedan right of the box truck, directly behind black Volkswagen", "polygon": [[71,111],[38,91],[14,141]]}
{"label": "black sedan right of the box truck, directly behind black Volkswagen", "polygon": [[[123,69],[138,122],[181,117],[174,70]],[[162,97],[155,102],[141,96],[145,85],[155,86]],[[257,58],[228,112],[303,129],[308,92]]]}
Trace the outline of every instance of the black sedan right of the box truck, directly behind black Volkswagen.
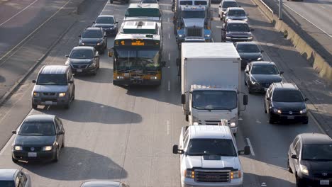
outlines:
{"label": "black sedan right of the box truck, directly behind black Volkswagen", "polygon": [[282,77],[274,62],[258,61],[251,62],[245,68],[245,85],[248,86],[249,94],[265,92],[270,84],[281,82]]}

